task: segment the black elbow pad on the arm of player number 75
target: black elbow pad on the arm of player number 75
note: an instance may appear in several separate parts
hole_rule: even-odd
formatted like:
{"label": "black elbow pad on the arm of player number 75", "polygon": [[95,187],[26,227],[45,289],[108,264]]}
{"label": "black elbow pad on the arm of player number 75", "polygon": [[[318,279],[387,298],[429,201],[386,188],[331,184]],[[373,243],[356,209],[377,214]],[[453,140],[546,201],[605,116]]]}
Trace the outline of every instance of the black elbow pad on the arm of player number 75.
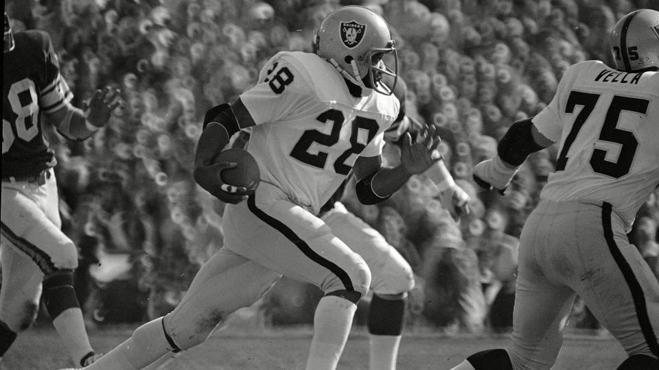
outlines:
{"label": "black elbow pad on the arm of player number 75", "polygon": [[531,119],[522,119],[513,123],[496,147],[499,157],[513,166],[520,166],[529,154],[544,149],[537,145],[531,134]]}

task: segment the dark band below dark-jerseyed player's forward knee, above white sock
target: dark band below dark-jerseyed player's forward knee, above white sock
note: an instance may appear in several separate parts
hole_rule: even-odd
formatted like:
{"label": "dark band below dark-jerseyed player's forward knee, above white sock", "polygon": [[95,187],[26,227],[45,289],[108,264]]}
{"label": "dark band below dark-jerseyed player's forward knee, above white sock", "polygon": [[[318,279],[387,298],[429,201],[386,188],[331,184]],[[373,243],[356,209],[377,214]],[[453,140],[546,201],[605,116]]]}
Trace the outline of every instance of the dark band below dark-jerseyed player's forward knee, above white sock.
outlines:
{"label": "dark band below dark-jerseyed player's forward knee, above white sock", "polygon": [[58,270],[44,277],[42,296],[51,320],[69,308],[80,308],[73,290],[73,270]]}

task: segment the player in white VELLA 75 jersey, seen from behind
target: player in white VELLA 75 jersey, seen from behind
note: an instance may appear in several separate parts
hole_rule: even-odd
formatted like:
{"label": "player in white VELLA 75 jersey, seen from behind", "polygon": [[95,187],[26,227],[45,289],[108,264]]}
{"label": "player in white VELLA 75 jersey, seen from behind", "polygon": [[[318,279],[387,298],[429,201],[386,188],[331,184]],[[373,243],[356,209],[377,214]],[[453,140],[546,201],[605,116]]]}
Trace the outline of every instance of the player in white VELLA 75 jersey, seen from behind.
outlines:
{"label": "player in white VELLA 75 jersey, seen from behind", "polygon": [[548,106],[474,167],[502,190],[529,153],[560,145],[520,236],[511,344],[454,369],[550,369],[576,295],[627,352],[618,369],[659,369],[659,282],[626,235],[659,186],[659,12],[623,16],[610,44],[615,68],[571,66]]}

